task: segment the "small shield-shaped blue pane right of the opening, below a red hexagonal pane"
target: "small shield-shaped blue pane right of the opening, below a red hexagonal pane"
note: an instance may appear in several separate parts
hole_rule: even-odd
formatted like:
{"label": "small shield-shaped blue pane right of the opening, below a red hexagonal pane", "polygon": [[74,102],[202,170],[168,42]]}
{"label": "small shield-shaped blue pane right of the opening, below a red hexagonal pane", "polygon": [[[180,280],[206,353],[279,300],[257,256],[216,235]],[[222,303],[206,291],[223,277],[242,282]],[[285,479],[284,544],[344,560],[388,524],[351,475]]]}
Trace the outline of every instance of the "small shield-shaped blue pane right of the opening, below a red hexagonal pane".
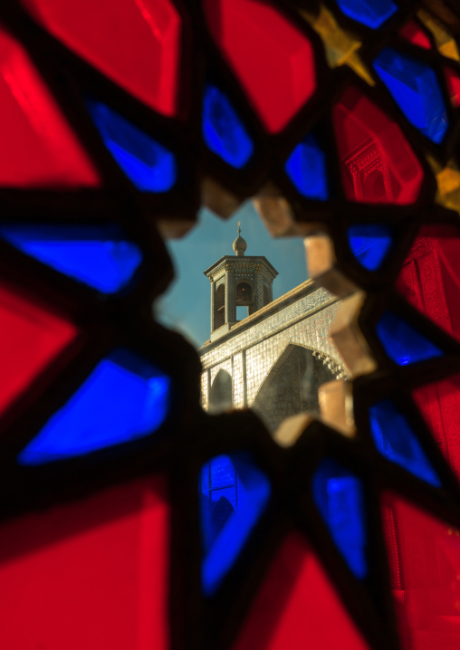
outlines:
{"label": "small shield-shaped blue pane right of the opening, below a red hexagonal pane", "polygon": [[352,225],[348,230],[351,253],[368,271],[376,271],[384,261],[393,237],[387,225]]}

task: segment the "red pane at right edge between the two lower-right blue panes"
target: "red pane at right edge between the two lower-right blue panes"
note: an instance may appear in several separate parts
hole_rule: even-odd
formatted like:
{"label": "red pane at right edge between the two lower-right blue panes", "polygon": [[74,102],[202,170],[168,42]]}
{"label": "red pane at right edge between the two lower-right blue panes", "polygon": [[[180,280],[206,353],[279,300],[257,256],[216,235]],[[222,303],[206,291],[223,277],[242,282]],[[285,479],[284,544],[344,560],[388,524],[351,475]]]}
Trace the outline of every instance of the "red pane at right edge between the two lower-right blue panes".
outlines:
{"label": "red pane at right edge between the two lower-right blue panes", "polygon": [[460,375],[417,388],[412,397],[460,480]]}

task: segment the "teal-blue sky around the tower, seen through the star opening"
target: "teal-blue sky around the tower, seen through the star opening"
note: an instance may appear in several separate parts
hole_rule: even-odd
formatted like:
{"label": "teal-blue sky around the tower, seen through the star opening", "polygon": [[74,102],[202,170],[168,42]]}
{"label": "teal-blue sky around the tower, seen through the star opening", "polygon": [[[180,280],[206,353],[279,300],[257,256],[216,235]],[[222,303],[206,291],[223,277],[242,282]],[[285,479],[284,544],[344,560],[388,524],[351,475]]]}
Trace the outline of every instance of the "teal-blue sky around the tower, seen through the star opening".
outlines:
{"label": "teal-blue sky around the tower, seen through the star opening", "polygon": [[273,239],[249,202],[226,220],[202,209],[191,232],[168,241],[177,279],[155,303],[158,320],[179,330],[196,348],[210,335],[211,290],[203,272],[223,255],[235,254],[232,244],[238,221],[247,244],[246,255],[264,255],[279,272],[273,281],[273,299],[307,279],[302,237]]}

